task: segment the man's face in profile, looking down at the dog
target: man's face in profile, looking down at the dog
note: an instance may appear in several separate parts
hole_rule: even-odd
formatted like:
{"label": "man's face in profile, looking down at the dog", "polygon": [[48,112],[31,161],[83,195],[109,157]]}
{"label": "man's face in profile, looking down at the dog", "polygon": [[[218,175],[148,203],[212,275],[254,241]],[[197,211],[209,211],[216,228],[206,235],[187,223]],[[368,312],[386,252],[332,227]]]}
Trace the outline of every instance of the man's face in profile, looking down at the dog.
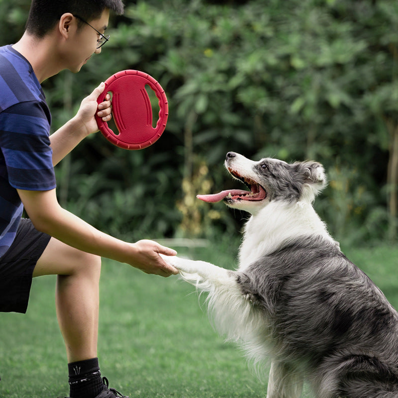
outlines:
{"label": "man's face in profile, looking down at the dog", "polygon": [[[77,18],[76,18],[77,19]],[[104,34],[109,21],[109,10],[104,9],[100,18],[87,21],[90,23],[83,23],[83,26],[76,31],[71,38],[72,51],[68,54],[69,62],[68,69],[74,73],[79,72],[82,66],[96,53],[100,54],[101,48],[97,48],[98,40],[101,38],[100,34]],[[76,20],[76,23],[78,20]],[[93,29],[93,27],[95,29]]]}

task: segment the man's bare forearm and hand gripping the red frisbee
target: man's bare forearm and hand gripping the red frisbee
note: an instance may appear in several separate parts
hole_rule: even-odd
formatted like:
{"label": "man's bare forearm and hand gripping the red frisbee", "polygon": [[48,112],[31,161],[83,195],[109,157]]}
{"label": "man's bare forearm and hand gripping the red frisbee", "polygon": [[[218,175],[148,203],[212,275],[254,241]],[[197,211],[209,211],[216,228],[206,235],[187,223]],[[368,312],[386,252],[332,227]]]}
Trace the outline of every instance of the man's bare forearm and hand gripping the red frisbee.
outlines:
{"label": "man's bare forearm and hand gripping the red frisbee", "polygon": [[104,88],[104,83],[101,83],[93,93],[82,101],[76,116],[50,135],[50,146],[53,150],[54,166],[72,151],[80,141],[98,131],[97,121],[94,117],[97,111],[103,121],[109,121],[111,119],[109,94],[106,95],[105,101],[100,104],[97,103],[97,99]]}

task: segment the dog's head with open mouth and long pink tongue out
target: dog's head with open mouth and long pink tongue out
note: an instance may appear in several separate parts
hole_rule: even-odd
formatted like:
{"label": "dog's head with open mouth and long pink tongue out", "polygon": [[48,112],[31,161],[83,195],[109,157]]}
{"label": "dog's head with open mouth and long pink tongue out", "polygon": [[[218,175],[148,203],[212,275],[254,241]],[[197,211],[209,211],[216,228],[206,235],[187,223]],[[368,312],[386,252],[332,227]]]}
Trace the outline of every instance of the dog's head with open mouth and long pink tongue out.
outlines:
{"label": "dog's head with open mouth and long pink tongue out", "polygon": [[312,202],[326,186],[323,167],[317,162],[286,163],[264,158],[254,162],[235,152],[228,152],[225,167],[250,191],[226,190],[215,195],[198,195],[207,202],[224,200],[230,207],[255,213],[271,201]]}

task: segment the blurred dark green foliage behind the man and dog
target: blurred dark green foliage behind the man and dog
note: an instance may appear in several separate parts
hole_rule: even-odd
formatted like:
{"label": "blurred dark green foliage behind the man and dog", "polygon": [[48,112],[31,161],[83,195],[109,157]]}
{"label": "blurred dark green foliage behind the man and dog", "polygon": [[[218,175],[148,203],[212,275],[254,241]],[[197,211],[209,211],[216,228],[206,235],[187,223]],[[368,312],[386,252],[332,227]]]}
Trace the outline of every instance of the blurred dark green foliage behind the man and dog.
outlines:
{"label": "blurred dark green foliage behind the man and dog", "polygon": [[[100,56],[44,83],[52,128],[123,69],[165,89],[167,128],[141,151],[87,138],[57,169],[64,206],[128,239],[232,232],[245,215],[195,196],[231,188],[223,159],[236,151],[321,162],[330,185],[315,206],[332,234],[397,236],[397,1],[125,4]],[[0,0],[0,44],[22,34],[28,8],[28,0]]]}

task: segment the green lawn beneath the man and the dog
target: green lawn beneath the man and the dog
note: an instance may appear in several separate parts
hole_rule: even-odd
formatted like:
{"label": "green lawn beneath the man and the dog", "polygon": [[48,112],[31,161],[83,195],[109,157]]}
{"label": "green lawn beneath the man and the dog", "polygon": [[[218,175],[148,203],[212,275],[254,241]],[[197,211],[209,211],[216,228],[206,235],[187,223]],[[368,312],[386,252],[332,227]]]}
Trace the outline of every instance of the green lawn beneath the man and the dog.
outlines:
{"label": "green lawn beneath the man and the dog", "polygon": [[[228,267],[237,252],[221,246],[191,254]],[[398,248],[343,251],[398,308]],[[190,285],[105,260],[100,288],[99,358],[111,387],[131,398],[265,397],[266,382],[214,332]],[[54,290],[55,277],[35,279],[27,314],[0,313],[0,398],[68,395]]]}

